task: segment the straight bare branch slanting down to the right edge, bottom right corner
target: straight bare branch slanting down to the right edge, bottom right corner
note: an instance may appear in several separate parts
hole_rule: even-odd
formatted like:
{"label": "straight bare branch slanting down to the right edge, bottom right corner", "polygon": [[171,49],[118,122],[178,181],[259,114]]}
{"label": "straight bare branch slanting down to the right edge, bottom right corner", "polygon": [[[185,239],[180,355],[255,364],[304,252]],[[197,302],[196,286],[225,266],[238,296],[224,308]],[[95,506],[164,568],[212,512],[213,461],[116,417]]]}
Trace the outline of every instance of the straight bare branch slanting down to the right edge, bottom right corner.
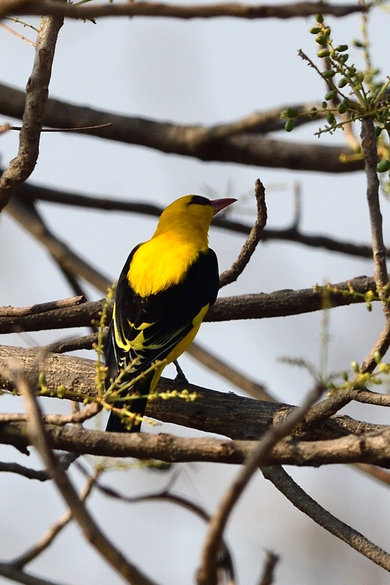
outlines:
{"label": "straight bare branch slanting down to the right edge, bottom right corner", "polygon": [[372,560],[382,569],[390,572],[390,555],[374,545],[363,534],[360,534],[351,526],[341,522],[339,518],[330,514],[320,504],[317,504],[298,484],[285,472],[282,467],[261,467],[265,479],[272,484],[303,514],[312,518],[316,524],[325,528],[330,534],[337,536],[341,541],[346,542],[351,548],[360,552],[361,555]]}

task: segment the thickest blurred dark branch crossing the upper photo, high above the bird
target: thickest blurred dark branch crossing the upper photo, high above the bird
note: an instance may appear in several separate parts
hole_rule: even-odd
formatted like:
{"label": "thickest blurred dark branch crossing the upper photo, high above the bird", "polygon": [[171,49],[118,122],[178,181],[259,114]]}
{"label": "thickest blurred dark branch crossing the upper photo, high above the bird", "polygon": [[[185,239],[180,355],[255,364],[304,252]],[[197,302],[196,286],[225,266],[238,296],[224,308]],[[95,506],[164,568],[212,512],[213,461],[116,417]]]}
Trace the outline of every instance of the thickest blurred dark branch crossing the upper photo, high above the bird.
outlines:
{"label": "thickest blurred dark branch crossing the upper photo, high above the bird", "polygon": [[[50,6],[52,4],[50,3]],[[23,92],[0,85],[0,111],[4,115],[20,118],[24,99]],[[346,163],[340,161],[341,154],[352,153],[349,148],[324,146],[317,142],[310,144],[283,142],[251,132],[221,140],[210,140],[213,128],[208,129],[201,125],[181,126],[146,118],[120,116],[58,99],[49,99],[47,102],[44,123],[51,128],[81,128],[96,126],[102,122],[110,122],[111,126],[98,130],[81,130],[81,133],[127,144],[139,144],[161,152],[181,154],[200,160],[325,173],[349,173],[363,168],[362,161],[351,160]]]}

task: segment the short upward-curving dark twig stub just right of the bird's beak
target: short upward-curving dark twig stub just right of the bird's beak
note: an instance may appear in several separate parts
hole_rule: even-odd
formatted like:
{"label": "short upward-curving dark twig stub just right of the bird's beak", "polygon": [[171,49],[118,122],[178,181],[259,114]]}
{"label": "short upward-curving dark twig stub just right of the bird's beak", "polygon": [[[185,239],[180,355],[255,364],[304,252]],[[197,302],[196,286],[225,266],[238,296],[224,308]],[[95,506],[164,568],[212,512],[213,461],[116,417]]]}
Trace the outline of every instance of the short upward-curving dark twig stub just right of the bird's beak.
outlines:
{"label": "short upward-curving dark twig stub just right of the bird's beak", "polygon": [[227,284],[233,283],[243,272],[247,263],[249,262],[256,246],[261,239],[261,233],[267,222],[267,208],[265,207],[265,190],[260,179],[257,179],[254,187],[254,194],[257,203],[257,218],[253,228],[250,230],[249,236],[244,243],[243,248],[237,260],[233,263],[229,270],[225,270],[219,277],[219,288],[225,287]]}

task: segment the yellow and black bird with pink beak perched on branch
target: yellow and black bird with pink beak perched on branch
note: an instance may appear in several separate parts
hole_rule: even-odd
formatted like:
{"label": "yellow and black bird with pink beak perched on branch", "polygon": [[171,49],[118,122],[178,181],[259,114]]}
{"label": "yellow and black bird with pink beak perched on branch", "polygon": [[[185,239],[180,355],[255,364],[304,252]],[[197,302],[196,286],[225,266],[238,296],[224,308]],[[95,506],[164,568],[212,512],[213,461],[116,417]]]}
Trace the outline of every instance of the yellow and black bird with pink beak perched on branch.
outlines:
{"label": "yellow and black bird with pink beak perched on branch", "polygon": [[161,213],[153,236],[130,252],[116,285],[104,353],[106,389],[115,388],[119,377],[115,389],[122,400],[112,406],[134,416],[124,422],[112,409],[106,431],[140,431],[147,396],[164,367],[198,333],[219,288],[218,260],[208,246],[210,222],[235,201],[181,197]]}

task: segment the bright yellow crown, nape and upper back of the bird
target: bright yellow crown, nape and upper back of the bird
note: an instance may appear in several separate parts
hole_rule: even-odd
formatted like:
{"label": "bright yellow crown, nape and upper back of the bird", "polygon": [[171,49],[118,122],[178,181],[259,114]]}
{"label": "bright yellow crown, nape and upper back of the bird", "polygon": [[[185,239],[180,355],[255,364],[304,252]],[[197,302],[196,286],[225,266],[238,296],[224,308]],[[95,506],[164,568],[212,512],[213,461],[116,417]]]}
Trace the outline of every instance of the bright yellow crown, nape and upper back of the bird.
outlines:
{"label": "bright yellow crown, nape and upper back of the bird", "polygon": [[208,250],[211,205],[192,204],[186,195],[168,205],[156,232],[134,253],[127,273],[129,284],[141,297],[180,283],[199,252]]}

